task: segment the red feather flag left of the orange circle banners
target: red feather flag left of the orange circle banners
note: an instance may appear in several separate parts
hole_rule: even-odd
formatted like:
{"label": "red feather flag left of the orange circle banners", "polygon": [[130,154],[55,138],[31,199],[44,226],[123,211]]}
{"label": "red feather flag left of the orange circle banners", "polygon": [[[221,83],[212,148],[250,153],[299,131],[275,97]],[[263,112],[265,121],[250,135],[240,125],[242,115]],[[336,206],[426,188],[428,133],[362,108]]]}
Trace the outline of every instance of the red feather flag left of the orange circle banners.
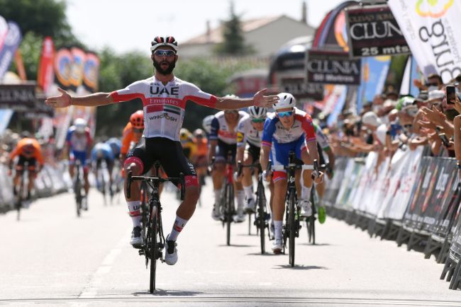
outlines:
{"label": "red feather flag left of the orange circle banners", "polygon": [[55,58],[55,45],[52,38],[47,36],[43,39],[40,64],[38,66],[37,83],[43,93],[48,94],[55,72],[53,71],[53,60]]}

